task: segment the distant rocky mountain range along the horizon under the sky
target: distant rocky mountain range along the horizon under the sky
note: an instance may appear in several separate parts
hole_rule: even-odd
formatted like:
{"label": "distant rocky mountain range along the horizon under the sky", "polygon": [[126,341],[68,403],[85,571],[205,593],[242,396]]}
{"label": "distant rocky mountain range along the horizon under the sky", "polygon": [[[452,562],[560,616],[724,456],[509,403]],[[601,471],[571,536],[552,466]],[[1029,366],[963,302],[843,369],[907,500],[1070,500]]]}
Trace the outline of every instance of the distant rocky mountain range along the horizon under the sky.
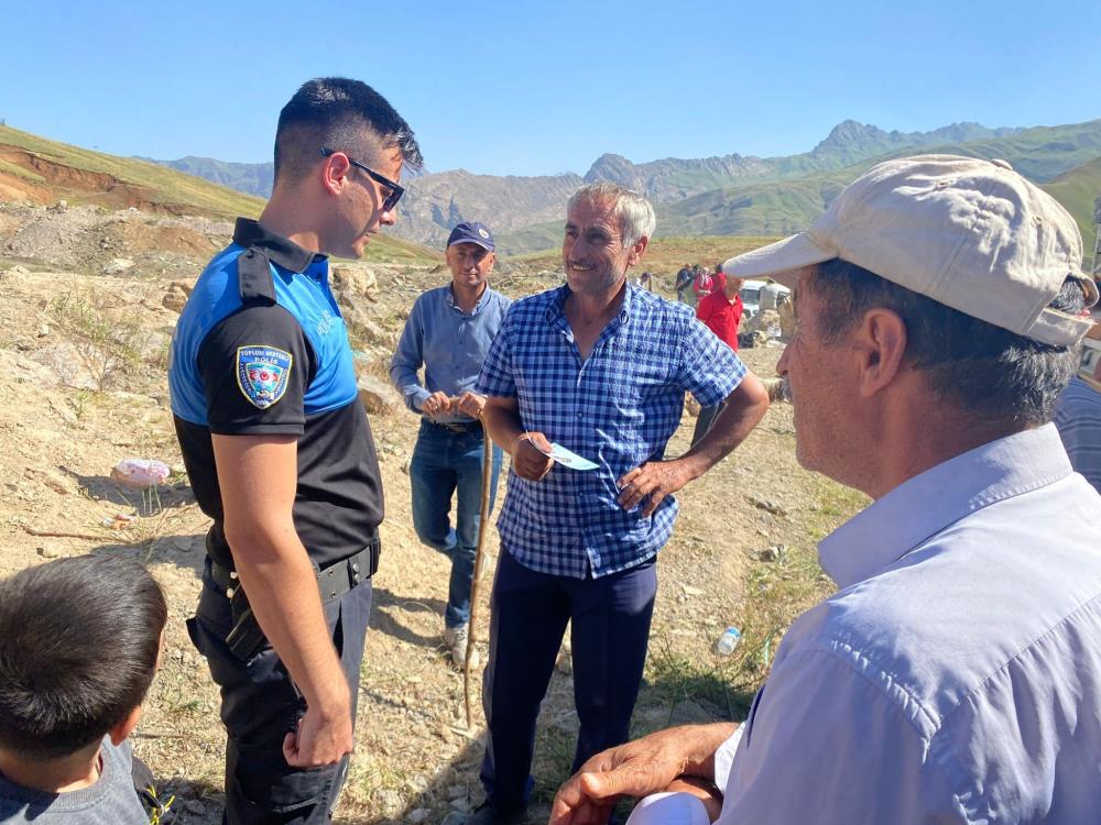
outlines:
{"label": "distant rocky mountain range along the horizon under the sky", "polygon": [[[813,219],[871,162],[923,150],[1013,155],[1012,162],[1023,162],[1024,174],[1046,183],[1101,157],[1101,121],[1035,129],[964,122],[928,132],[889,132],[847,120],[813,150],[795,155],[733,153],[633,163],[604,154],[584,176],[426,173],[410,182],[393,232],[438,248],[456,222],[482,220],[499,233],[505,253],[546,249],[560,238],[569,195],[584,183],[612,180],[644,193],[655,204],[662,216],[658,234],[782,234],[803,226],[808,216]],[[160,163],[242,191],[270,193],[271,164],[196,157]]]}

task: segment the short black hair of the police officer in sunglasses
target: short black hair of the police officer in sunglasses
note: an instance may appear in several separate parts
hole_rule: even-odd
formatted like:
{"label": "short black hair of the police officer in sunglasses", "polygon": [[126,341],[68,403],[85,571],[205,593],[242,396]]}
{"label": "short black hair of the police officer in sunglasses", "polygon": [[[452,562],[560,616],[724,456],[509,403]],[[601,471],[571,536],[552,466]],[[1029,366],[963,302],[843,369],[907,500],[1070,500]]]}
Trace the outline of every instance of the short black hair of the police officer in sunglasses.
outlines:
{"label": "short black hair of the police officer in sunglasses", "polygon": [[294,94],[275,129],[275,180],[304,178],[321,148],[371,163],[383,148],[401,150],[406,166],[419,168],[421,147],[410,124],[382,95],[360,80],[316,77]]}

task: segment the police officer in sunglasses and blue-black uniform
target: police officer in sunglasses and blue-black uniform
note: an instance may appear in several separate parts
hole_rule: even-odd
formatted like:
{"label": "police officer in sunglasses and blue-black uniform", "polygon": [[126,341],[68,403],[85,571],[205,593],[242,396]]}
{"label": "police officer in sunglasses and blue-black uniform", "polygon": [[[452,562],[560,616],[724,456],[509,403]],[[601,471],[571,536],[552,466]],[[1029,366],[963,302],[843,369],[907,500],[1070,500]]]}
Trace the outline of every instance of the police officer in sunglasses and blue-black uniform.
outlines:
{"label": "police officer in sunglasses and blue-black uniform", "polygon": [[168,381],[207,535],[192,640],[221,689],[229,823],[328,822],[347,772],[382,484],[326,255],[391,226],[421,152],[369,86],[310,80],[275,183],[181,315]]}

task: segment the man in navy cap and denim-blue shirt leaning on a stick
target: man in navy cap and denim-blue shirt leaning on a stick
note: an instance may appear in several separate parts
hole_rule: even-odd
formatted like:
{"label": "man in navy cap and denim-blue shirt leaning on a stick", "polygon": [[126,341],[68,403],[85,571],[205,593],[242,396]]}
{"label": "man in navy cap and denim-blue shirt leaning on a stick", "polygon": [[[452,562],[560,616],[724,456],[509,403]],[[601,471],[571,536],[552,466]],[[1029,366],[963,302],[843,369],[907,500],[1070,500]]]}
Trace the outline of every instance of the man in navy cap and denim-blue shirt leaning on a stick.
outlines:
{"label": "man in navy cap and denim-blue shirt leaning on a stick", "polygon": [[[390,378],[405,405],[422,416],[410,462],[413,527],[421,541],[451,560],[444,644],[458,668],[467,656],[484,461],[486,399],[472,389],[512,302],[489,287],[494,249],[493,235],[482,223],[464,222],[451,230],[445,253],[451,283],[416,299],[390,362]],[[417,377],[422,364],[423,383]],[[501,455],[501,448],[494,447],[490,509]],[[456,493],[453,527],[449,514]]]}

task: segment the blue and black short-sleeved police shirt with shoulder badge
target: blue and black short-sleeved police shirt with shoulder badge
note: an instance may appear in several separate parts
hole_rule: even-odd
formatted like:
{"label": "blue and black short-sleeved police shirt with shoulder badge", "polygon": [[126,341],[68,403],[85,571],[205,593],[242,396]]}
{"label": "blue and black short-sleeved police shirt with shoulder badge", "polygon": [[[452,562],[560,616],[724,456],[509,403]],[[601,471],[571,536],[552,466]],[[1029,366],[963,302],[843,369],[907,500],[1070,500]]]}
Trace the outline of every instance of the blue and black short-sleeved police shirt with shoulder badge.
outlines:
{"label": "blue and black short-sleeved police shirt with shoulder badge", "polygon": [[211,433],[297,438],[294,524],[319,566],[374,537],[379,463],[324,255],[239,219],[181,314],[168,385],[192,487],[214,519],[216,562],[233,568]]}

